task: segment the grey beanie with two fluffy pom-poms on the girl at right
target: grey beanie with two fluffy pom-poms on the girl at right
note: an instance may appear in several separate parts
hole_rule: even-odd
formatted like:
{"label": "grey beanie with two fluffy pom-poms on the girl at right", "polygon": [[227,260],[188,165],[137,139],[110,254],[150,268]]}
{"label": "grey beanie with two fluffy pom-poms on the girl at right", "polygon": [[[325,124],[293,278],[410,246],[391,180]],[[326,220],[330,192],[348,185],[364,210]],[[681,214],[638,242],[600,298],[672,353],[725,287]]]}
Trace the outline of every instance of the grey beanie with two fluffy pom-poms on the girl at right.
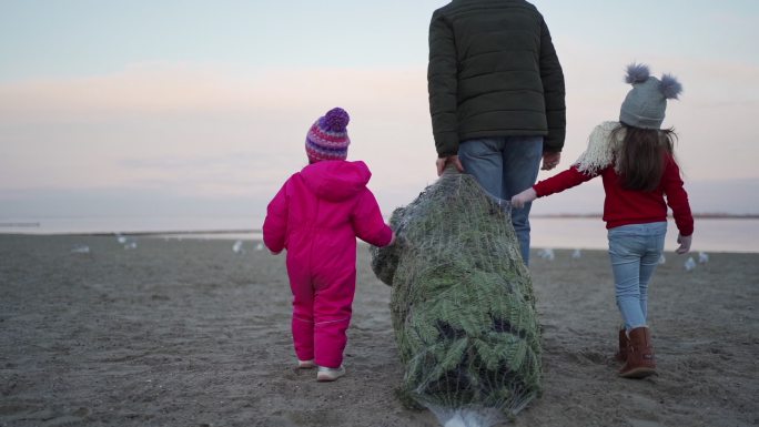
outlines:
{"label": "grey beanie with two fluffy pom-poms on the girl at right", "polygon": [[635,128],[661,129],[667,100],[677,99],[682,85],[669,74],[661,80],[650,75],[645,64],[627,65],[625,81],[632,89],[625,96],[619,111],[619,121]]}

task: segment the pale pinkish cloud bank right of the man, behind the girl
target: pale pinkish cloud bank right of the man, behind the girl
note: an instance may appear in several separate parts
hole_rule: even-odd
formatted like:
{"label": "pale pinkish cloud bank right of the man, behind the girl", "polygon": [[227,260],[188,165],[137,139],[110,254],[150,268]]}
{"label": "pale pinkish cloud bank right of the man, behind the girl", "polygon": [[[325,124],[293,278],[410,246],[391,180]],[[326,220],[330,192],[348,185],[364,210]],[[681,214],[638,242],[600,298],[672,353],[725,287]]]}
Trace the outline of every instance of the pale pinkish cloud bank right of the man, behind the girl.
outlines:
{"label": "pale pinkish cloud bank right of the man, behind the girl", "polygon": [[755,84],[758,64],[750,60],[641,53],[625,47],[599,50],[567,39],[560,43],[567,82],[566,162],[585,150],[597,123],[617,120],[619,105],[630,89],[623,82],[624,67],[637,61],[649,64],[654,75],[670,72],[682,82],[684,94],[679,101],[669,102],[664,125],[675,126],[680,135],[676,151],[687,179],[758,175],[752,164],[759,155],[759,146],[753,143],[753,122],[759,116],[759,85]]}

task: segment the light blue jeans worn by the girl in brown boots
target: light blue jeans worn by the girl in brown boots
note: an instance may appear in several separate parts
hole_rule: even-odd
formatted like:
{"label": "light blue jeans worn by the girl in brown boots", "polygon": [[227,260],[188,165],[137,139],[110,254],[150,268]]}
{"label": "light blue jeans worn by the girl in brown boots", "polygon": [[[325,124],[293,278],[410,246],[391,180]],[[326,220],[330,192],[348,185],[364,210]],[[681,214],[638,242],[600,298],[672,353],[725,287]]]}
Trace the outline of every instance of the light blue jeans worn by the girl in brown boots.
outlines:
{"label": "light blue jeans worn by the girl in brown boots", "polygon": [[608,231],[617,307],[628,332],[647,325],[648,283],[659,264],[666,234],[666,222],[623,225]]}

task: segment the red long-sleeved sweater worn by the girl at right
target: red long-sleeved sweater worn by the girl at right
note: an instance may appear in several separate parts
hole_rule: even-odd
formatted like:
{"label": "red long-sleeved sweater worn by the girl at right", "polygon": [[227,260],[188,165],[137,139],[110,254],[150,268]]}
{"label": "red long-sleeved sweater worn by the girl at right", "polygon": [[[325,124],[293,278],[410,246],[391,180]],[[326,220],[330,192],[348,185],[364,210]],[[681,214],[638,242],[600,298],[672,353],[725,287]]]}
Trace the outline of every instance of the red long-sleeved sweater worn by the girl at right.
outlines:
{"label": "red long-sleeved sweater worn by the girl at right", "polygon": [[694,233],[694,217],[690,214],[688,193],[682,187],[680,169],[669,154],[666,159],[665,172],[659,187],[651,192],[623,189],[619,175],[614,171],[614,165],[607,166],[598,174],[586,174],[578,171],[576,166],[571,166],[555,176],[538,182],[533,189],[535,189],[538,197],[543,197],[571,189],[598,175],[604,179],[606,192],[604,221],[606,221],[607,228],[667,221],[667,205],[669,205],[680,234],[689,236]]}

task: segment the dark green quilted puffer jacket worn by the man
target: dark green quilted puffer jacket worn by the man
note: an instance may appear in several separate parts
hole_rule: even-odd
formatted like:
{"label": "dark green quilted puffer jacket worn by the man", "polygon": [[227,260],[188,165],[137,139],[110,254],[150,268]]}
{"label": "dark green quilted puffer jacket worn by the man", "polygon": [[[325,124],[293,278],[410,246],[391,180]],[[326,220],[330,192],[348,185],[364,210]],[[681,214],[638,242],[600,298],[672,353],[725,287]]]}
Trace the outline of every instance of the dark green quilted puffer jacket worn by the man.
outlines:
{"label": "dark green quilted puffer jacket worn by the man", "polygon": [[564,146],[564,73],[543,16],[523,0],[453,0],[433,13],[429,112],[441,157],[461,141],[545,135]]}

